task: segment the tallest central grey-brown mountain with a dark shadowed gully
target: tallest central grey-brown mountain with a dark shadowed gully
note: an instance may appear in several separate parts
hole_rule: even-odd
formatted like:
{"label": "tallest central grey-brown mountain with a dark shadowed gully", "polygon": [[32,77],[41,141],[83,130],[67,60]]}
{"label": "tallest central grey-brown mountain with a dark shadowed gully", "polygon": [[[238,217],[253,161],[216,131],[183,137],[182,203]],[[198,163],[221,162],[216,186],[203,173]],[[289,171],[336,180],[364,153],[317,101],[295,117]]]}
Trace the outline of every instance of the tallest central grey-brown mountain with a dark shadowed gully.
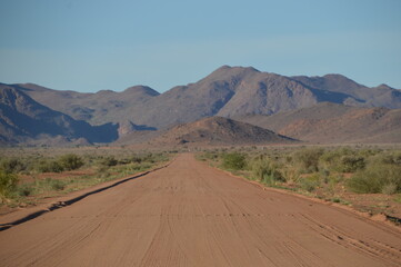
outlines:
{"label": "tallest central grey-brown mountain with a dark shadowed gully", "polygon": [[196,83],[150,99],[146,107],[132,107],[130,113],[141,113],[138,123],[163,128],[209,116],[270,115],[310,107],[328,98],[337,101],[345,97],[320,92],[288,77],[253,68],[224,66]]}

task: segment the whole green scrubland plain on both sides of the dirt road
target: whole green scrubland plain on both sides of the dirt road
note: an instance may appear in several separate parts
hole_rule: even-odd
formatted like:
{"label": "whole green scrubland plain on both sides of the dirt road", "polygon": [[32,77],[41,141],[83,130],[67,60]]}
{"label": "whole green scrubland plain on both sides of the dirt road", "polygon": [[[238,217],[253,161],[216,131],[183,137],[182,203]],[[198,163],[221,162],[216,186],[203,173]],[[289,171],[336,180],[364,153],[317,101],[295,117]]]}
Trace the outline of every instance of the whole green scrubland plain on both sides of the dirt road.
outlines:
{"label": "whole green scrubland plain on both sides of the dirt road", "polygon": [[[181,150],[128,147],[9,148],[0,151],[0,214],[127,177]],[[191,148],[234,175],[370,214],[401,218],[399,146],[267,146]],[[2,210],[2,211],[1,211]]]}

